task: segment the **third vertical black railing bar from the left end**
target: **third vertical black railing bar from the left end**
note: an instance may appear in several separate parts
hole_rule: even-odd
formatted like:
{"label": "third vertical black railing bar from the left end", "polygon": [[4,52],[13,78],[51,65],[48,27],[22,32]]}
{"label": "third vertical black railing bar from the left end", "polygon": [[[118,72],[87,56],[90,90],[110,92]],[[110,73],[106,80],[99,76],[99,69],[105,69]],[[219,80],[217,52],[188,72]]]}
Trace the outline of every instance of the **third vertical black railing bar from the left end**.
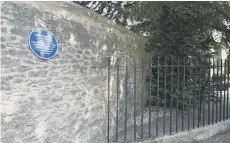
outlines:
{"label": "third vertical black railing bar from the left end", "polygon": [[127,139],[127,97],[128,97],[128,59],[125,67],[125,141]]}

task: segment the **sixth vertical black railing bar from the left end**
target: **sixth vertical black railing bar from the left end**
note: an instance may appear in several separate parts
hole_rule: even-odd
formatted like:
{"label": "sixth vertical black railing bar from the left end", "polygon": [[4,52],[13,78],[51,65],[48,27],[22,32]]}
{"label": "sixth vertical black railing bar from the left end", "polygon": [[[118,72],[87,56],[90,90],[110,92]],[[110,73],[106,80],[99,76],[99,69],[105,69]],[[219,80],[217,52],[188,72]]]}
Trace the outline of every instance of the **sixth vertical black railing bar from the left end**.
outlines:
{"label": "sixth vertical black railing bar from the left end", "polygon": [[149,138],[151,138],[152,56],[149,64]]}

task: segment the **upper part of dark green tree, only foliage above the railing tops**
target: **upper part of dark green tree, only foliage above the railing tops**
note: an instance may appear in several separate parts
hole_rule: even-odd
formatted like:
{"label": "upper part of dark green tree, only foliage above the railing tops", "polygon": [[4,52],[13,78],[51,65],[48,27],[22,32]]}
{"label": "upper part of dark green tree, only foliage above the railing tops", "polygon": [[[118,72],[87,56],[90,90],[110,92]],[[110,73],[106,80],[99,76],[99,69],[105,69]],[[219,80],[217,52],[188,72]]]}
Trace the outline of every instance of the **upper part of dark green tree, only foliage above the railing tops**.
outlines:
{"label": "upper part of dark green tree, only foliage above the railing tops", "polygon": [[[137,2],[131,15],[140,22],[131,29],[146,33],[148,47],[162,55],[203,56],[230,42],[229,2]],[[222,32],[221,43],[213,30]]]}

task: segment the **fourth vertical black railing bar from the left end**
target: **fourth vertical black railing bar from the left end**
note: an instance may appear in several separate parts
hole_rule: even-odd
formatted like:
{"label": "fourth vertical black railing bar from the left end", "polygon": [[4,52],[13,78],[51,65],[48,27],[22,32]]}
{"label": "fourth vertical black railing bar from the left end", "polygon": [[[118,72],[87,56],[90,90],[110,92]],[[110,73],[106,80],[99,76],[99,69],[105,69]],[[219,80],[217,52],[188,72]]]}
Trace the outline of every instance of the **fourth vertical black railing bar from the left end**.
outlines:
{"label": "fourth vertical black railing bar from the left end", "polygon": [[136,59],[134,58],[134,140],[136,140]]}

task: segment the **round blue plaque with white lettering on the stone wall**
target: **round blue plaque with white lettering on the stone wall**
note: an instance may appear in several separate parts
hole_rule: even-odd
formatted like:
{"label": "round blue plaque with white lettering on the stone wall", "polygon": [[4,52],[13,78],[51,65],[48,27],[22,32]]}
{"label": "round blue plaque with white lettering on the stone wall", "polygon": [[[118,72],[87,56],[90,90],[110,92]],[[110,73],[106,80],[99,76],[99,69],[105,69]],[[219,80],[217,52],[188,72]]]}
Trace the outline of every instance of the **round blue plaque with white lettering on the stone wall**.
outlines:
{"label": "round blue plaque with white lettering on the stone wall", "polygon": [[58,52],[57,40],[53,33],[42,28],[30,33],[29,45],[33,53],[42,59],[50,59]]}

